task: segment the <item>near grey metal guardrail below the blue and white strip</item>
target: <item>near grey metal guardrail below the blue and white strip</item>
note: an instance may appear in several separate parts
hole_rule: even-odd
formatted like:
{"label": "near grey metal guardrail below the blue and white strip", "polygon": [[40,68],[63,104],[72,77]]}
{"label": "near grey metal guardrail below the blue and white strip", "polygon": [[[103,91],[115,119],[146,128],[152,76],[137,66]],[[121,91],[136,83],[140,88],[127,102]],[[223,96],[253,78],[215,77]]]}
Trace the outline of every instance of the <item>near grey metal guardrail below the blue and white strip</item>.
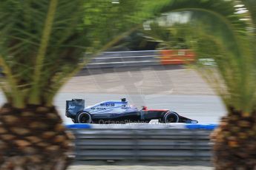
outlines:
{"label": "near grey metal guardrail below the blue and white strip", "polygon": [[70,129],[76,160],[211,160],[211,129]]}

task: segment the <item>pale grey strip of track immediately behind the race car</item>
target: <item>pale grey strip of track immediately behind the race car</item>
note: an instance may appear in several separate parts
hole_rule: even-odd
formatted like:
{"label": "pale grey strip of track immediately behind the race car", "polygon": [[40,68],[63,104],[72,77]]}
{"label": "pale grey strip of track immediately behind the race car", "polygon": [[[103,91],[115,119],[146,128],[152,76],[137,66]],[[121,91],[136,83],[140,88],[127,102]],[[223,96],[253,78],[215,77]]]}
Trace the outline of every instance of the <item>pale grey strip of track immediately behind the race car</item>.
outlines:
{"label": "pale grey strip of track immediately behind the race car", "polygon": [[200,123],[217,123],[226,113],[223,103],[215,95],[127,95],[127,94],[100,94],[100,93],[60,93],[55,104],[65,123],[72,123],[65,117],[65,101],[72,98],[85,99],[85,105],[107,100],[127,98],[129,103],[140,108],[170,109],[180,115],[198,120]]}

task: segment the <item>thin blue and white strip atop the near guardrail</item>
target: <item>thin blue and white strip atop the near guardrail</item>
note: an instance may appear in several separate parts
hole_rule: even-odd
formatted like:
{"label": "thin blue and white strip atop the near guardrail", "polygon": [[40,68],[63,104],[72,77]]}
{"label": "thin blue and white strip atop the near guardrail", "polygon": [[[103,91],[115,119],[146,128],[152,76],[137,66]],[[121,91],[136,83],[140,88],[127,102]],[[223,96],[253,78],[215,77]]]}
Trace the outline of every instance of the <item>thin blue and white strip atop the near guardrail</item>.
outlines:
{"label": "thin blue and white strip atop the near guardrail", "polygon": [[65,124],[68,129],[215,129],[217,124],[188,123],[128,123],[128,124]]}

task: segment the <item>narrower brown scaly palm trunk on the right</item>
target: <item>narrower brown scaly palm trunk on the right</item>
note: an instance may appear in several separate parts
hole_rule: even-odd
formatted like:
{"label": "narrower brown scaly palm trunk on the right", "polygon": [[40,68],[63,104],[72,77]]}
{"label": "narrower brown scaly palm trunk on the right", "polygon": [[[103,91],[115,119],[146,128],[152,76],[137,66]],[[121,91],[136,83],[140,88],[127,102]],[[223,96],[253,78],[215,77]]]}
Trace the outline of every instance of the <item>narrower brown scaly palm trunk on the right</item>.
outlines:
{"label": "narrower brown scaly palm trunk on the right", "polygon": [[256,111],[229,108],[229,115],[221,120],[211,137],[217,170],[256,169]]}

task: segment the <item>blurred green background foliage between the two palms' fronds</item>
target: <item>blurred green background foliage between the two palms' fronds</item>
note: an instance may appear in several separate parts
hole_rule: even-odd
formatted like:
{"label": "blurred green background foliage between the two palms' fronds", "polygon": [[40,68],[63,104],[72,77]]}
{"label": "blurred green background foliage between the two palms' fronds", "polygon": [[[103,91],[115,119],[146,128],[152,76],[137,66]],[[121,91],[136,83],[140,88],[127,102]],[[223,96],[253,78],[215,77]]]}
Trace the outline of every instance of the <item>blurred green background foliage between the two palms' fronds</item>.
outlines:
{"label": "blurred green background foliage between the two palms' fronds", "polygon": [[142,1],[125,0],[89,0],[85,7],[85,27],[87,52],[102,49],[105,44],[113,41],[116,36],[136,27],[142,18],[137,17],[142,10]]}

